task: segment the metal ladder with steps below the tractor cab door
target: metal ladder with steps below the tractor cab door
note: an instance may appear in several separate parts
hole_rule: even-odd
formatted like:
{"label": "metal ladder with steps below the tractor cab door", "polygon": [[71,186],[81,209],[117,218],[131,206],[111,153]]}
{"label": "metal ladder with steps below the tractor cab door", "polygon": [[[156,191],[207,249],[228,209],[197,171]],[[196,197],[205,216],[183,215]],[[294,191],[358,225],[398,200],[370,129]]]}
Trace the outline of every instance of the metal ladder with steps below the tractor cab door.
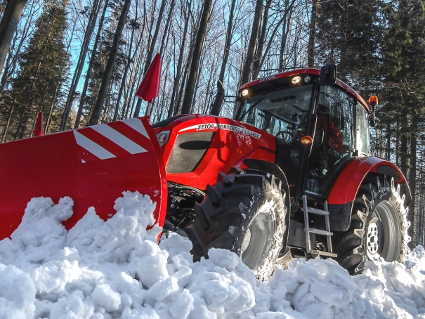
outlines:
{"label": "metal ladder with steps below the tractor cab door", "polygon": [[[308,207],[307,196],[303,195],[303,208],[301,208],[301,210],[304,211],[304,224],[305,224],[305,230],[306,230],[306,247],[307,247],[308,254],[317,254],[317,255],[320,255],[320,256],[336,257],[336,254],[334,254],[332,252],[331,236],[333,235],[333,233],[331,232],[331,227],[330,227],[330,224],[329,224],[329,209],[327,207],[327,201],[325,201],[325,210],[316,209],[316,208],[313,208],[313,207]],[[320,216],[325,216],[326,230],[310,228],[308,226],[308,221],[309,221],[308,213],[320,215]],[[323,252],[323,251],[317,250],[317,249],[311,249],[310,233],[326,236],[328,252]]]}

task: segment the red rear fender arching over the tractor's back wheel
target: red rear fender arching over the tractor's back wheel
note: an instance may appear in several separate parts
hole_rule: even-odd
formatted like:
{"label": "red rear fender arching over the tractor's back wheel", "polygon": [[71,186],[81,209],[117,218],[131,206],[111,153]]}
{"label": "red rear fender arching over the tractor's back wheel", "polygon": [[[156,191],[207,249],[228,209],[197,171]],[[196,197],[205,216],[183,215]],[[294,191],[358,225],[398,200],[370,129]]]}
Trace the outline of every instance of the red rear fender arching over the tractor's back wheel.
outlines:
{"label": "red rear fender arching over the tractor's back wheel", "polygon": [[[395,164],[380,157],[357,157],[349,162],[339,174],[327,197],[328,203],[346,204],[353,202],[363,178],[369,172],[392,176],[395,182],[407,185],[405,176]],[[410,197],[410,192],[407,197]]]}

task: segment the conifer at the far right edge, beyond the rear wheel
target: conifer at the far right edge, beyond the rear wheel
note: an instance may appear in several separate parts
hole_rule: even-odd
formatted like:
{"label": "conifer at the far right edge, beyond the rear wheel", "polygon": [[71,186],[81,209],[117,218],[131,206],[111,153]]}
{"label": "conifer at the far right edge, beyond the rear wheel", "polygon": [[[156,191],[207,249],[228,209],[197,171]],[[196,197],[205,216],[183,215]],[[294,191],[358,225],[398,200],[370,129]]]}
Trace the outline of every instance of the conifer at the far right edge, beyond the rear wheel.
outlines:
{"label": "conifer at the far right edge, beyond the rear wheel", "polygon": [[[398,117],[400,148],[396,150],[400,158],[400,169],[407,177],[412,191],[412,204],[408,216],[415,221],[410,229],[412,245],[417,245],[417,134],[418,127],[424,125],[425,111],[425,5],[418,0],[400,0],[394,6],[388,6],[388,32],[383,44],[382,71],[384,87],[382,97],[388,101],[383,112],[382,122],[391,123]],[[389,116],[388,116],[389,115]],[[388,132],[391,134],[391,132]],[[421,188],[421,185],[418,185]],[[419,230],[419,229],[417,229]]]}

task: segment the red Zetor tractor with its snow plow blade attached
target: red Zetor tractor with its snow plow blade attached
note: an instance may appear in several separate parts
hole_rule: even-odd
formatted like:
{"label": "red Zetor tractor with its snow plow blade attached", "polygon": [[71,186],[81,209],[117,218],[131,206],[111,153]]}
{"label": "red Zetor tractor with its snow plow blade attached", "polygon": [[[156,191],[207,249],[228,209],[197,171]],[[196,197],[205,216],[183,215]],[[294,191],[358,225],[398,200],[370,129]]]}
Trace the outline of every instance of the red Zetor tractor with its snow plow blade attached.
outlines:
{"label": "red Zetor tractor with its snow plow blade attached", "polygon": [[0,238],[32,197],[72,197],[71,228],[91,206],[107,219],[138,190],[195,260],[229,249],[258,278],[291,256],[332,257],[351,274],[367,259],[403,261],[405,176],[369,155],[372,112],[335,74],[327,65],[245,84],[235,119],[141,117],[4,143]]}

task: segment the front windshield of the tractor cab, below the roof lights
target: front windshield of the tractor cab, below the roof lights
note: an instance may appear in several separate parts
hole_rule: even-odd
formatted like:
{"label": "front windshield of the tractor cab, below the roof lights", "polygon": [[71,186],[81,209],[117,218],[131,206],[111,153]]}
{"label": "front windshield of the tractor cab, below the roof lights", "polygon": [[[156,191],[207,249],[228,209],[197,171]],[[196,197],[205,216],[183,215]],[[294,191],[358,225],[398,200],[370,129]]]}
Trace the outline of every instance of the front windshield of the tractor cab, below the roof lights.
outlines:
{"label": "front windshield of the tractor cab, below the roof lights", "polygon": [[291,86],[249,96],[242,105],[240,120],[292,142],[308,115],[311,90],[312,85]]}

